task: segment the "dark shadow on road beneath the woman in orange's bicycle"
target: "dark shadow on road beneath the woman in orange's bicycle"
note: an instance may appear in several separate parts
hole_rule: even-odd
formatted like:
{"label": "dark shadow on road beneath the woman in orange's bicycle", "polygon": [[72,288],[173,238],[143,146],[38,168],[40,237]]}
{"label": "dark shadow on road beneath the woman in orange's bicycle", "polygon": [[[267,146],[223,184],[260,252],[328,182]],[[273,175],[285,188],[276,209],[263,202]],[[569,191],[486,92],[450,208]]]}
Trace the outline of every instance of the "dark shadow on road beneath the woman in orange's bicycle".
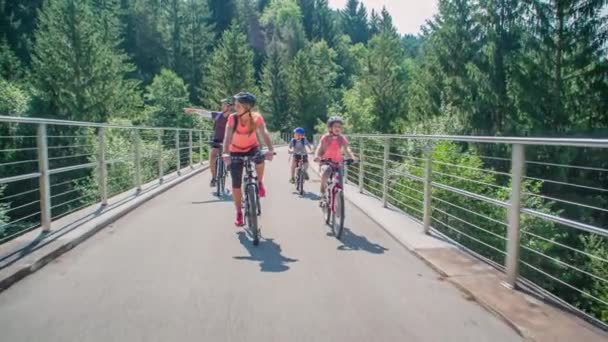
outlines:
{"label": "dark shadow on road beneath the woman in orange's bicycle", "polygon": [[261,272],[285,272],[289,270],[287,264],[297,262],[281,254],[281,245],[274,242],[274,239],[262,239],[258,246],[254,246],[247,233],[238,232],[241,245],[247,249],[249,256],[234,257],[236,260],[247,260],[260,263]]}

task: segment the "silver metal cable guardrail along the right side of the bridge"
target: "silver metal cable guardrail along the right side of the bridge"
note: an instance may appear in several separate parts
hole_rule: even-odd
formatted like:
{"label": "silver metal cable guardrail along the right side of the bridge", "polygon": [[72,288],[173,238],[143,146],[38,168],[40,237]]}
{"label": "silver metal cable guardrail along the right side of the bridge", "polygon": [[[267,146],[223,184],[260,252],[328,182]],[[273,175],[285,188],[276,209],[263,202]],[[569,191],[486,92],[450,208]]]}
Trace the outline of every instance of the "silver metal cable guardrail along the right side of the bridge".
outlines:
{"label": "silver metal cable guardrail along the right side of the bridge", "polygon": [[[504,271],[505,285],[607,327],[608,140],[348,138],[359,162],[347,181],[362,193]],[[559,163],[560,153],[600,165]]]}

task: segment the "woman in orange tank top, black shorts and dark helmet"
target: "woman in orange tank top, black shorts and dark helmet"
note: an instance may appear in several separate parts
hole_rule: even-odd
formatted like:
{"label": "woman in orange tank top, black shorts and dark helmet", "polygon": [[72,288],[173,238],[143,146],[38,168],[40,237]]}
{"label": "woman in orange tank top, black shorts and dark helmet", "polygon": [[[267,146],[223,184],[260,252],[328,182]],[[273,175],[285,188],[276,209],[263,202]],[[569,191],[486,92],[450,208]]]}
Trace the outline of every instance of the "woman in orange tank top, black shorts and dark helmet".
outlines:
{"label": "woman in orange tank top, black shorts and dark helmet", "polygon": [[[266,159],[272,160],[274,155],[274,147],[272,139],[266,130],[264,117],[260,113],[252,112],[255,106],[256,98],[251,93],[238,93],[234,96],[234,104],[236,113],[228,118],[226,125],[226,137],[224,138],[224,151],[229,151],[229,154],[224,154],[226,165],[230,165],[230,176],[232,178],[232,197],[236,207],[237,226],[243,226],[242,201],[243,192],[241,185],[243,183],[243,161],[232,157],[251,157],[260,153],[260,143],[257,133],[264,139],[264,143],[268,147],[269,153],[266,154]],[[258,176],[258,188],[260,197],[266,195],[264,187],[264,159],[260,158],[256,162],[256,173]]]}

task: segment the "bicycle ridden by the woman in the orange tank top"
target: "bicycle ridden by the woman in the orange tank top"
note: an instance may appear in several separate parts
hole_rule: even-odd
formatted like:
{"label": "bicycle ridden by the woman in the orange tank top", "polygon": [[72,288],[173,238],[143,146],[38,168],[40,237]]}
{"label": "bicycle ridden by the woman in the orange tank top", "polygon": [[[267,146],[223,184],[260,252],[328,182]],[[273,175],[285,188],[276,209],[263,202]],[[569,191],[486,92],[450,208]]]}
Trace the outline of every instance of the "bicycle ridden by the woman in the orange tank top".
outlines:
{"label": "bicycle ridden by the woman in the orange tank top", "polygon": [[255,156],[247,157],[232,157],[232,162],[242,160],[245,169],[243,215],[245,217],[245,224],[253,237],[254,246],[257,246],[260,243],[261,231],[258,224],[258,217],[262,215],[258,177],[255,174],[255,162],[265,159],[266,153],[267,152],[260,152]]}

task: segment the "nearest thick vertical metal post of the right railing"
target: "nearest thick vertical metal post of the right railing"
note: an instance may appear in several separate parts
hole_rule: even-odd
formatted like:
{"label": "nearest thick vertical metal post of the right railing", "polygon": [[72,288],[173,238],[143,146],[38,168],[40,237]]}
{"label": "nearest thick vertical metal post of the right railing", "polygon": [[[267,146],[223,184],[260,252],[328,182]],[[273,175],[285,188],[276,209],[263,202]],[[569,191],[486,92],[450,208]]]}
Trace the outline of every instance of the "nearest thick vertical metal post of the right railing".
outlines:
{"label": "nearest thick vertical metal post of the right railing", "polygon": [[507,255],[505,265],[507,267],[507,286],[515,288],[519,273],[519,224],[521,213],[521,188],[525,172],[525,149],[524,145],[514,144],[511,157],[511,198],[507,223]]}

